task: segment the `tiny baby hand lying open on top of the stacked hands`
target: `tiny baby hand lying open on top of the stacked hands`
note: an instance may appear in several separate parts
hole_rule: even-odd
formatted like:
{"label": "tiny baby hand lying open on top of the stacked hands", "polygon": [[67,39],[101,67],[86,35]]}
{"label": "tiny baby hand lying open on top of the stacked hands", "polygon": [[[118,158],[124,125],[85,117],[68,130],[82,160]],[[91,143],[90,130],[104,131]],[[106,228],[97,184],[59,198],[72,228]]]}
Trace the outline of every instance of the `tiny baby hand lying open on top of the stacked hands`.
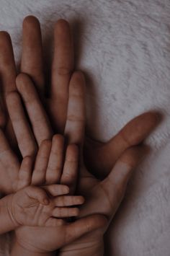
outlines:
{"label": "tiny baby hand lying open on top of the stacked hands", "polygon": [[9,214],[17,226],[58,226],[62,219],[79,215],[76,206],[84,203],[81,196],[66,195],[66,185],[29,186],[12,195],[9,200]]}

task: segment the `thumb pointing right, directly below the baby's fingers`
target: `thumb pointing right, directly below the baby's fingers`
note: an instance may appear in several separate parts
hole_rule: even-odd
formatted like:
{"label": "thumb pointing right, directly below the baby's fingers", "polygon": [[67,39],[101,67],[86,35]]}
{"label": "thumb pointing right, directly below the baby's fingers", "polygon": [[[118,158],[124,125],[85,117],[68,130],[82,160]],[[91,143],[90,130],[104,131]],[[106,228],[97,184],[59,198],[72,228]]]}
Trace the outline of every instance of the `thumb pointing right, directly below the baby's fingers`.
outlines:
{"label": "thumb pointing right, directly below the baby's fingers", "polygon": [[79,219],[66,226],[66,243],[107,225],[107,219],[102,214],[95,214]]}

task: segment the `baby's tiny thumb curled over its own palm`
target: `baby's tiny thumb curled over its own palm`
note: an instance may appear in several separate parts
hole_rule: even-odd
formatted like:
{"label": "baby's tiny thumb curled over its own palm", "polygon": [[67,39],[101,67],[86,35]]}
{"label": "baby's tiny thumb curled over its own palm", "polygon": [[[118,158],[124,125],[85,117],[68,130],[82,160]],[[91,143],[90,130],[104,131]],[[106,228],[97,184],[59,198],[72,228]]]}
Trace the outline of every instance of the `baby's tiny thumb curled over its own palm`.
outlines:
{"label": "baby's tiny thumb curled over its own palm", "polygon": [[40,187],[27,187],[27,195],[32,199],[37,199],[42,205],[47,206],[50,203],[47,193]]}

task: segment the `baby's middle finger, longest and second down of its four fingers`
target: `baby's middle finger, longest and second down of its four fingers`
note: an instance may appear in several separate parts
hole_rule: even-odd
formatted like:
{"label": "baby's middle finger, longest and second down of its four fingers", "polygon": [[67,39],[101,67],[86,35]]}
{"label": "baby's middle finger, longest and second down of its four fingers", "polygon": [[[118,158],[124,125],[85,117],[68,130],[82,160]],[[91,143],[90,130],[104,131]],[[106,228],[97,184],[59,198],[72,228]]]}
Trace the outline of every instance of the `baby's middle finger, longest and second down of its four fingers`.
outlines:
{"label": "baby's middle finger, longest and second down of its four fingers", "polygon": [[53,199],[55,206],[76,206],[84,203],[84,198],[79,195],[61,195]]}

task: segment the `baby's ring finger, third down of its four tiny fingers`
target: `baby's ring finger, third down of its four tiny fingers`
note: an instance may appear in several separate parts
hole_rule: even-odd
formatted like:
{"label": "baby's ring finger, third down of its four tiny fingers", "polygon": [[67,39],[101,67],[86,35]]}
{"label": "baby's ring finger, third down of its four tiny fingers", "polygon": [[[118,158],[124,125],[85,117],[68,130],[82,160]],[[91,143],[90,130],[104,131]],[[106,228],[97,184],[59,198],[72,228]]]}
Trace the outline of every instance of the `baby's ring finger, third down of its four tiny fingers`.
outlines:
{"label": "baby's ring finger, third down of its four tiny fingers", "polygon": [[79,209],[78,208],[60,208],[56,207],[53,210],[53,217],[55,218],[68,218],[73,216],[79,215]]}

